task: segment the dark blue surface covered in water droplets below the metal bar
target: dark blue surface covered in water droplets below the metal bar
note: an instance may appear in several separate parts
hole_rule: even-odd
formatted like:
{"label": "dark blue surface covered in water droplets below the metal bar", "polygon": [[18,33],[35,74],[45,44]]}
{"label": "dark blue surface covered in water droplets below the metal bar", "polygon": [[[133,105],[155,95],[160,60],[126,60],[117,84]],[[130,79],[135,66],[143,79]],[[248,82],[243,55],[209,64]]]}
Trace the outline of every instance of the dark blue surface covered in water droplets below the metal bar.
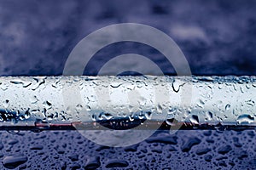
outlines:
{"label": "dark blue surface covered in water droplets below the metal bar", "polygon": [[[192,130],[172,135],[158,131],[140,144],[112,148],[90,142],[77,131],[2,132],[0,168],[255,169],[255,135],[253,131]],[[10,161],[15,164],[9,166]]]}

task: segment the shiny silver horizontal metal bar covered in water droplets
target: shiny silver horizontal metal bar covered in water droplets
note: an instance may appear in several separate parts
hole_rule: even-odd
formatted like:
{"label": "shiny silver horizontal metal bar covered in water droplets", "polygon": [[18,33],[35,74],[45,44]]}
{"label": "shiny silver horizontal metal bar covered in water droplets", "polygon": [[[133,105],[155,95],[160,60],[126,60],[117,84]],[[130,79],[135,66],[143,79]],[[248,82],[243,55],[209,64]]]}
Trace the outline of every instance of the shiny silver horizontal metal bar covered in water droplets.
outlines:
{"label": "shiny silver horizontal metal bar covered in water droplets", "polygon": [[251,128],[255,102],[256,77],[0,77],[0,130],[119,120]]}

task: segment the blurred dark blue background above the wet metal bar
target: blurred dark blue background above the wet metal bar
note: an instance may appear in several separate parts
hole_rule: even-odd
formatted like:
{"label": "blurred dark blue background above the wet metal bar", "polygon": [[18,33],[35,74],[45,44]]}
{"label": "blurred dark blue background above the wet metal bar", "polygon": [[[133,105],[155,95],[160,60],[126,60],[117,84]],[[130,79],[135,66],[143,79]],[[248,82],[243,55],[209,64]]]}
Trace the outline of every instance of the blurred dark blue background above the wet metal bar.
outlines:
{"label": "blurred dark blue background above the wet metal bar", "polygon": [[[256,2],[0,1],[0,75],[61,75],[68,54],[92,31],[123,22],[154,26],[172,37],[194,75],[256,74]],[[102,48],[86,68],[96,75],[118,54],[148,56],[166,74],[165,57],[142,44]]]}

